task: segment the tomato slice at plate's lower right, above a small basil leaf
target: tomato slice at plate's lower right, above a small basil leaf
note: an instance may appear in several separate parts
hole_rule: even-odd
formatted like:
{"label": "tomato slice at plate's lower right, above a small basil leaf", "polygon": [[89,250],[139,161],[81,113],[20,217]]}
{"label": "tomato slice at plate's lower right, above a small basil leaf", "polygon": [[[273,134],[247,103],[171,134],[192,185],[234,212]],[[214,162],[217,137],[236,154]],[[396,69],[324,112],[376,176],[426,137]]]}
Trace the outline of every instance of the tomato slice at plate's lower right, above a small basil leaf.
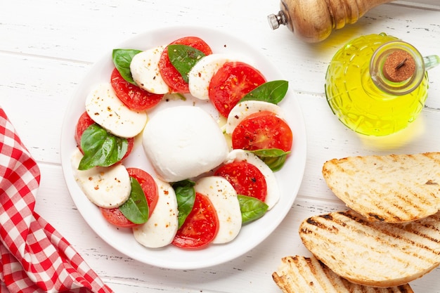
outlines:
{"label": "tomato slice at plate's lower right, above a small basil leaf", "polygon": [[267,195],[266,179],[261,171],[248,162],[232,162],[221,166],[216,176],[226,178],[239,195],[247,195],[264,202]]}

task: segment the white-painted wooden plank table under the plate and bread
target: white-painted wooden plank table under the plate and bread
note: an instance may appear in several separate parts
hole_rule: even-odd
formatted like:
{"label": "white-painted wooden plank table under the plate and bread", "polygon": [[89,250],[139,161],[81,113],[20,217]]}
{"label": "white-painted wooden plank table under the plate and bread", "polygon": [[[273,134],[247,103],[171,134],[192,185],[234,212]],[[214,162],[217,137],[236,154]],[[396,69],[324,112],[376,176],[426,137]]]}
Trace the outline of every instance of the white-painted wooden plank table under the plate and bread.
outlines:
{"label": "white-painted wooden plank table under the plate and bread", "polygon": [[[429,98],[413,126],[415,135],[401,141],[379,144],[359,138],[332,115],[323,89],[330,58],[360,34],[387,32],[413,44],[424,56],[440,54],[438,0],[384,4],[313,45],[302,43],[286,27],[272,31],[266,15],[278,10],[278,0],[0,1],[0,105],[41,168],[37,212],[60,230],[115,292],[280,292],[271,273],[281,257],[308,253],[297,235],[300,221],[344,209],[321,176],[325,160],[440,150],[440,67],[429,72]],[[304,179],[283,223],[247,254],[200,270],[148,266],[112,249],[80,216],[60,164],[63,117],[89,68],[115,44],[170,25],[212,27],[252,44],[289,80],[308,134]],[[411,285],[415,292],[439,293],[440,268]]]}

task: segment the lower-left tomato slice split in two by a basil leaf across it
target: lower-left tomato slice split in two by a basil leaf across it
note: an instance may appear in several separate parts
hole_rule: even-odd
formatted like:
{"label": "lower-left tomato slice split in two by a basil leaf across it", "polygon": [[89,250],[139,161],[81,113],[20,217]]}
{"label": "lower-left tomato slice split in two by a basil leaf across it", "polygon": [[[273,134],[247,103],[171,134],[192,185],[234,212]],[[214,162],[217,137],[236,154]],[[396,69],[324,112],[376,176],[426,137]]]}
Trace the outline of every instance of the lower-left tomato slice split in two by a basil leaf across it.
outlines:
{"label": "lower-left tomato slice split in two by a basil leaf across it", "polygon": [[[153,213],[157,200],[159,199],[159,195],[157,193],[157,185],[153,177],[147,172],[137,169],[137,168],[127,168],[130,177],[134,177],[139,184],[141,184],[141,188],[143,193],[145,193],[145,198],[148,202],[148,212],[149,216]],[[103,214],[105,220],[107,220],[112,225],[122,227],[122,228],[131,228],[134,226],[138,226],[138,224],[133,223],[127,219],[122,211],[119,208],[115,209],[104,209],[102,207],[99,208],[101,210],[101,214]]]}

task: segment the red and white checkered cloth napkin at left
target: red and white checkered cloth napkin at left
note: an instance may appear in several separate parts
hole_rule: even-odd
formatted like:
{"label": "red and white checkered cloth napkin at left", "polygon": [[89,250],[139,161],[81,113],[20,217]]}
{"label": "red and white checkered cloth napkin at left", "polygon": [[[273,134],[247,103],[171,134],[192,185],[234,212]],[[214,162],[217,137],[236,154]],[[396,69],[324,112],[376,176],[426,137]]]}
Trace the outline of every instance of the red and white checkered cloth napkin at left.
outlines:
{"label": "red and white checkered cloth napkin at left", "polygon": [[0,108],[0,292],[112,292],[34,212],[40,172]]}

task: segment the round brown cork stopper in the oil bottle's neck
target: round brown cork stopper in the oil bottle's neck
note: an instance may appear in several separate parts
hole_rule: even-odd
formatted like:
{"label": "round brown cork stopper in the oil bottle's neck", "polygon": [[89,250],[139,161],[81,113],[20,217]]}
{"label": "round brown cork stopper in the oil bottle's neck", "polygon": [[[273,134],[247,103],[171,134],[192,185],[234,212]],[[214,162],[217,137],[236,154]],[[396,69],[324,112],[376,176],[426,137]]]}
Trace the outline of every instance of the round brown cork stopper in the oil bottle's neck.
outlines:
{"label": "round brown cork stopper in the oil bottle's neck", "polygon": [[387,56],[382,72],[391,82],[403,82],[413,76],[415,60],[410,53],[396,50]]}

